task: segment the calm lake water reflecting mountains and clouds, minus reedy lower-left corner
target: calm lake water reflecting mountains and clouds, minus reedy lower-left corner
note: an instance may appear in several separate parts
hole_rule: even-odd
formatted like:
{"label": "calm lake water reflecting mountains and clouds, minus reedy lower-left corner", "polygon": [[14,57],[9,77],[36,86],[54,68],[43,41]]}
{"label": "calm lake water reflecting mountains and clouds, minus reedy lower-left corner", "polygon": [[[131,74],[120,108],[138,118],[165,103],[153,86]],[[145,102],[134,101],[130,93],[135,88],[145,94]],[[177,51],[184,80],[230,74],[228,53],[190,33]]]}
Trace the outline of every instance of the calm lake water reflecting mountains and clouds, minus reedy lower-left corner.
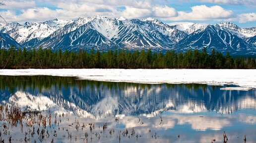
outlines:
{"label": "calm lake water reflecting mountains and clouds, minus reedy lower-left corner", "polygon": [[[245,135],[246,143],[256,143],[256,90],[221,91],[223,87],[227,85],[152,85],[84,81],[74,77],[0,76],[0,100],[22,110],[37,109],[58,117],[63,114],[60,126],[65,129],[58,131],[57,125],[47,127],[49,132],[57,130],[59,134],[58,137],[50,134],[45,139],[47,143],[52,139],[54,143],[86,143],[85,132],[89,135],[88,143],[211,143],[213,139],[214,143],[223,143],[223,131],[227,143],[245,143]],[[87,127],[83,131],[72,128],[75,120]],[[92,131],[89,123],[95,124]],[[105,123],[108,128],[102,131]],[[67,129],[73,133],[72,139],[66,137]],[[128,135],[123,136],[126,129]],[[115,133],[110,134],[112,130]],[[15,129],[10,131],[10,135],[17,135],[12,136],[13,143],[22,143],[24,134]],[[1,138],[7,140],[10,135]],[[40,142],[36,136],[29,138],[30,142]]]}

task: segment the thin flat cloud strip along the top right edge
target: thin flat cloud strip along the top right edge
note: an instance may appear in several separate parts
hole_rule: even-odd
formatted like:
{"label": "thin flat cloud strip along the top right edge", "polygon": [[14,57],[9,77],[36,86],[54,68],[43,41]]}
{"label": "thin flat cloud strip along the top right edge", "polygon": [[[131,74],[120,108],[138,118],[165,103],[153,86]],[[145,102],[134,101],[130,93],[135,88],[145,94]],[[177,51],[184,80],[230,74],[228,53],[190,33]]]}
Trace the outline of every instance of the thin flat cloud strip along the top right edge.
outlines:
{"label": "thin flat cloud strip along the top right edge", "polygon": [[234,4],[256,6],[256,0],[200,0],[201,2],[210,2],[218,4]]}

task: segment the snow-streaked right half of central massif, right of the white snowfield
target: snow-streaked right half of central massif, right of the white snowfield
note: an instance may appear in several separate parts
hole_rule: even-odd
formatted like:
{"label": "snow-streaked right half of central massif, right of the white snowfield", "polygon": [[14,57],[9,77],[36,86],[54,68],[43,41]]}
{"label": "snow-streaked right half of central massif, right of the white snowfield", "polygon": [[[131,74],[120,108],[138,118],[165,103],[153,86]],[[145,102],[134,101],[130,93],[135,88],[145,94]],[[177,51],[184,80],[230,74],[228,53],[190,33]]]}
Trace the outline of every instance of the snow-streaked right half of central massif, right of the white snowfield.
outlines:
{"label": "snow-streaked right half of central massif, right of the white snowfield", "polygon": [[[154,25],[154,24],[153,24]],[[132,19],[119,22],[118,38],[112,40],[126,48],[166,48],[173,42],[160,33],[152,23]]]}

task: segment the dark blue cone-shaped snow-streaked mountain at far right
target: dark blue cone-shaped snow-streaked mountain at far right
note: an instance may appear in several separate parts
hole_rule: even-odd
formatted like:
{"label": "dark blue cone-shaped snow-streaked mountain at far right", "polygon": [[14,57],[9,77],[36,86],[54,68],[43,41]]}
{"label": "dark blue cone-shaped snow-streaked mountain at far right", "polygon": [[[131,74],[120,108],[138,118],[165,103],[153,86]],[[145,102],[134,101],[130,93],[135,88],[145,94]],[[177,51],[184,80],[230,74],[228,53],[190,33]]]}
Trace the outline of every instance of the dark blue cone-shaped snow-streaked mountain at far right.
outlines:
{"label": "dark blue cone-shaped snow-streaked mountain at far right", "polygon": [[206,48],[210,52],[213,48],[222,53],[229,51],[231,54],[255,54],[256,48],[248,44],[241,37],[223,29],[219,25],[208,25],[206,28],[193,32],[177,43],[181,51]]}

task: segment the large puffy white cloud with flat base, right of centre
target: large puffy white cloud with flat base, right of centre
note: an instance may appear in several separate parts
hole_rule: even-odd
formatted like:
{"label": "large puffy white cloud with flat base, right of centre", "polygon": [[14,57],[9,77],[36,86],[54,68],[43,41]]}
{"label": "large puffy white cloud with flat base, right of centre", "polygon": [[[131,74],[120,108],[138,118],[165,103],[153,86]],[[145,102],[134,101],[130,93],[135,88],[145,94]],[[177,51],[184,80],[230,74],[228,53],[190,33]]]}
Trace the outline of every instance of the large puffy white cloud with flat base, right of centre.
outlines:
{"label": "large puffy white cloud with flat base, right of centre", "polygon": [[197,5],[191,7],[192,12],[178,11],[178,16],[170,17],[168,20],[217,20],[228,19],[235,16],[231,10],[226,10],[221,6]]}

